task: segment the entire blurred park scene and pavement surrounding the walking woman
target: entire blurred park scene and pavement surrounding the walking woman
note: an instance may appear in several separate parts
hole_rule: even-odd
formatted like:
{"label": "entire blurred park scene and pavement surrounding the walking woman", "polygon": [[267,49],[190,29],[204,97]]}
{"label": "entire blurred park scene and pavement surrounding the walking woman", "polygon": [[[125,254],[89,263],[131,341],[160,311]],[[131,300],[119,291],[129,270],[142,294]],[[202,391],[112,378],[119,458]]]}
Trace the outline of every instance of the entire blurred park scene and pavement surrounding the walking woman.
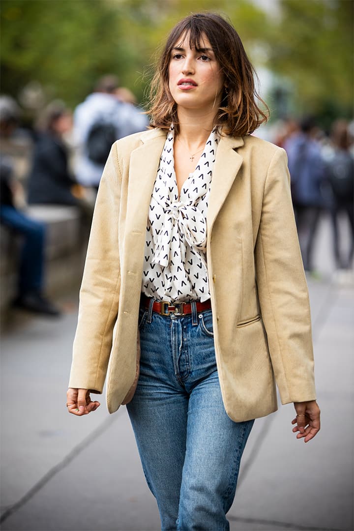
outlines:
{"label": "entire blurred park scene and pavement surrounding the walking woman", "polygon": [[77,422],[65,392],[107,150],[146,129],[169,30],[206,10],[228,16],[258,74],[271,117],[254,134],[288,154],[328,421],[305,450],[288,434],[289,406],[271,417],[278,436],[256,423],[231,529],[353,529],[354,2],[2,0],[3,529],[159,527],[125,408]]}

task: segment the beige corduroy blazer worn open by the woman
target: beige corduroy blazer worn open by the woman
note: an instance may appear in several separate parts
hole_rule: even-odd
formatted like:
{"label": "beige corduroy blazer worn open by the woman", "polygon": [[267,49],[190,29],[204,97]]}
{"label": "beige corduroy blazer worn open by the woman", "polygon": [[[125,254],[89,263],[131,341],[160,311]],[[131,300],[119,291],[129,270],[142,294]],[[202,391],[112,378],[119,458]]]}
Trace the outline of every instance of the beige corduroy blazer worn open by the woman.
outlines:
{"label": "beige corduroy blazer worn open by the woman", "polygon": [[[137,375],[146,220],[165,139],[155,129],[115,142],[94,209],[69,386],[101,393],[108,369],[110,413]],[[283,149],[255,136],[222,136],[206,257],[222,398],[237,422],[277,409],[275,381],[283,404],[316,398],[289,182]]]}

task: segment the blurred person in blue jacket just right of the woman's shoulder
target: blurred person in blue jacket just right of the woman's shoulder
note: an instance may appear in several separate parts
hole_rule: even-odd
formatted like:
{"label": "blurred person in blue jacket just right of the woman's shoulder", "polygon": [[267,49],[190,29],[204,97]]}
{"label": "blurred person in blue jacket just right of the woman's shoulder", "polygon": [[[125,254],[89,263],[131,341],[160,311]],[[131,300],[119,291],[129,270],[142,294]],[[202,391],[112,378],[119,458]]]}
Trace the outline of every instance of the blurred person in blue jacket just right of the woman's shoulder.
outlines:
{"label": "blurred person in blue jacket just right of the woman's shoulder", "polygon": [[284,141],[291,176],[291,196],[306,271],[313,271],[313,246],[322,210],[327,206],[324,195],[325,166],[321,147],[315,140],[317,131],[312,117],[300,122],[299,131]]}

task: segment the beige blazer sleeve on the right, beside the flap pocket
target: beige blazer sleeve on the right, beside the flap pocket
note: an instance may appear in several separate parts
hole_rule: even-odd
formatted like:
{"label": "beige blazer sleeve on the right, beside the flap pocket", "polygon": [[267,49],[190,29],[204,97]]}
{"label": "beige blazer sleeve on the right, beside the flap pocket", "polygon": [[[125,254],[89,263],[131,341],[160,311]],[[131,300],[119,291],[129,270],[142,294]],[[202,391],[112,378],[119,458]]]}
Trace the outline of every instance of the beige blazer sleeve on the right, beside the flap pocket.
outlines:
{"label": "beige blazer sleeve on the right, beside the flap pocket", "polygon": [[282,404],[314,400],[314,361],[306,277],[293,216],[286,152],[278,148],[264,185],[256,280]]}

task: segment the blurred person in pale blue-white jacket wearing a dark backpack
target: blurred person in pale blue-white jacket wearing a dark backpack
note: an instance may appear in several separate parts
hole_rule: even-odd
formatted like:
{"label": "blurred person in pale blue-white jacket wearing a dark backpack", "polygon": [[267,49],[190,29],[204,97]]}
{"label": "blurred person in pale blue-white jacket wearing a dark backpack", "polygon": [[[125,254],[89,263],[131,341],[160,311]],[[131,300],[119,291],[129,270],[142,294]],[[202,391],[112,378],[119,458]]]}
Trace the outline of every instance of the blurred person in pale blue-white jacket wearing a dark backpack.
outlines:
{"label": "blurred person in pale blue-white jacket wearing a dark backpack", "polygon": [[111,145],[148,126],[148,119],[139,109],[116,95],[118,88],[117,76],[105,75],[75,109],[75,176],[83,186],[97,189]]}

